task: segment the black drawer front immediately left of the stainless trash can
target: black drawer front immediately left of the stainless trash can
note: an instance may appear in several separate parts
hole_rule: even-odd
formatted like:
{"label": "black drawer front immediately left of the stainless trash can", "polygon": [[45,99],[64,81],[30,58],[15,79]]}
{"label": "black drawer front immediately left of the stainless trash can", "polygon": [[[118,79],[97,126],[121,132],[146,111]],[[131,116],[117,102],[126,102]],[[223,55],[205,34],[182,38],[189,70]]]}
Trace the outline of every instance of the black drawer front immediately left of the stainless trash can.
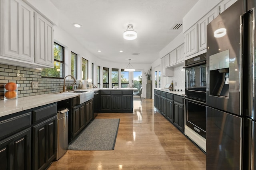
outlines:
{"label": "black drawer front immediately left of the stainless trash can", "polygon": [[34,110],[32,112],[32,123],[36,123],[40,120],[44,120],[47,117],[57,114],[57,104],[52,104],[50,106],[45,106],[40,109]]}

